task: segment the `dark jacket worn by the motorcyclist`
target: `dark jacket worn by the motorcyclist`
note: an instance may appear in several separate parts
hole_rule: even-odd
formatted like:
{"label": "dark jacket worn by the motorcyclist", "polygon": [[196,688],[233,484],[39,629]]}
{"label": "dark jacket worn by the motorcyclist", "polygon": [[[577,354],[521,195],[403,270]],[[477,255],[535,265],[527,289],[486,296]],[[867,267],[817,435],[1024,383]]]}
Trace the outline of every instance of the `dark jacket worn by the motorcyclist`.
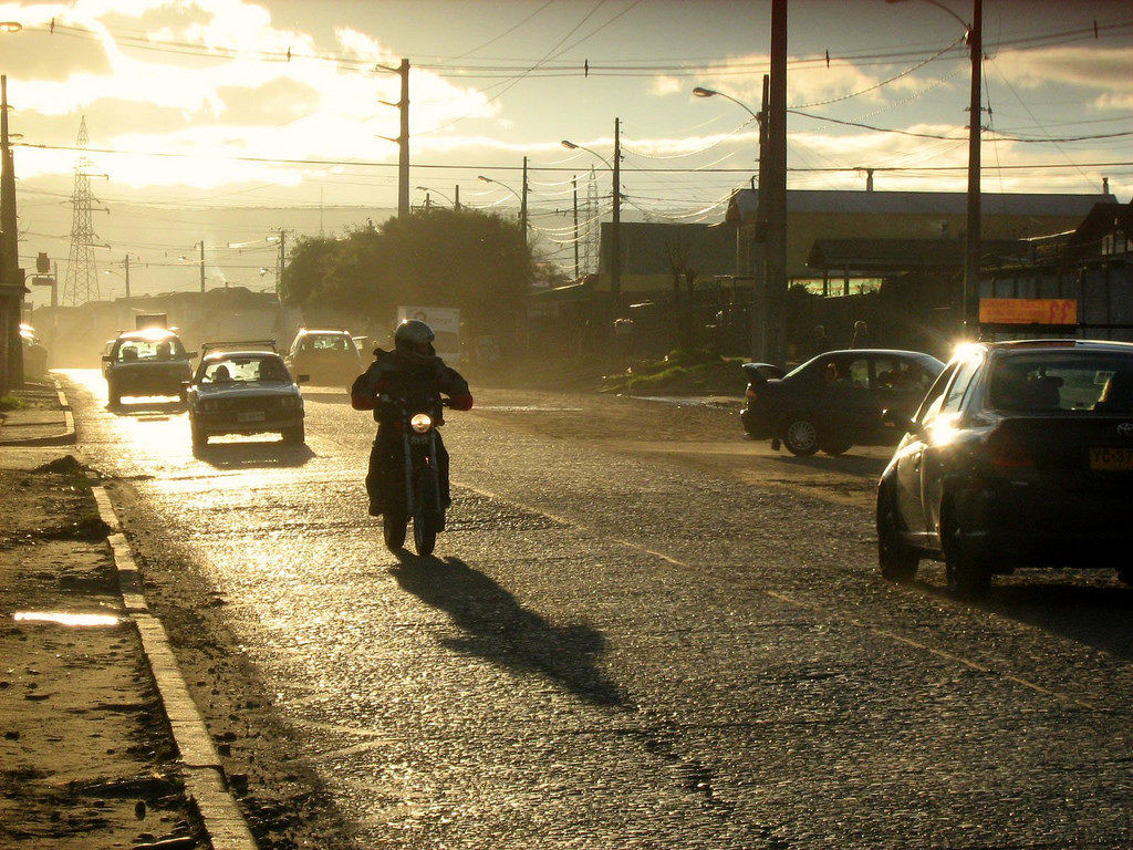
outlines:
{"label": "dark jacket worn by the motorcyclist", "polygon": [[350,388],[350,406],[355,410],[373,410],[382,422],[382,406],[377,397],[386,393],[409,401],[440,400],[448,396],[453,410],[470,410],[472,394],[468,382],[455,369],[444,365],[440,357],[428,357],[395,349],[375,351],[374,363],[355,379]]}

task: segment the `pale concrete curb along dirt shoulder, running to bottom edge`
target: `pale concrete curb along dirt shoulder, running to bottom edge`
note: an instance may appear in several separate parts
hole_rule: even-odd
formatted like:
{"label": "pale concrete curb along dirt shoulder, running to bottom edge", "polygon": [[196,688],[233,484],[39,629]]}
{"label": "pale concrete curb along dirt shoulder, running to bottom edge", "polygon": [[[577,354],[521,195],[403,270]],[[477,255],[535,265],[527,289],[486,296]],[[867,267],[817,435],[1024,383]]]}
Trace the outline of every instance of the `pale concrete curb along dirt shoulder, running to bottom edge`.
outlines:
{"label": "pale concrete curb along dirt shoulder, running to bottom edge", "polygon": [[92,490],[99,516],[112,529],[108,539],[118,570],[122,604],[137,627],[146,662],[157,683],[165,716],[185,765],[186,791],[196,802],[213,850],[256,850],[252,831],[240,814],[236,798],[228,790],[220,756],[181,675],[169,636],[161,621],[150,613],[142,592],[142,576],[110,496],[96,482],[92,482]]}

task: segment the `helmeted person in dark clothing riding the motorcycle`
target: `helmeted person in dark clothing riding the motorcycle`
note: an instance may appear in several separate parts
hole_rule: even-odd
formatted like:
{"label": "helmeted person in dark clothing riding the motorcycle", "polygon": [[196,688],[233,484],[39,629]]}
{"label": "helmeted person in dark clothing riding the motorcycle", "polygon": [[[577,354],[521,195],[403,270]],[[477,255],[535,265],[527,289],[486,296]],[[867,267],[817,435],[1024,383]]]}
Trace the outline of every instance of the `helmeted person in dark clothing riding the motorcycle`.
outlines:
{"label": "helmeted person in dark clothing riding the motorcycle", "polygon": [[[444,365],[433,348],[433,329],[416,318],[403,320],[393,332],[393,350],[374,349],[374,363],[358,375],[350,388],[350,406],[356,410],[373,410],[377,422],[377,436],[369,452],[369,471],[366,492],[369,513],[377,517],[395,509],[403,500],[400,486],[404,475],[401,432],[397,413],[391,405],[382,403],[385,394],[401,401],[421,401],[440,410],[441,396],[449,397],[449,407],[470,410],[472,396],[468,382],[455,369]],[[442,424],[441,422],[437,423]],[[441,486],[441,502],[448,508],[449,452],[436,432],[436,470]]]}

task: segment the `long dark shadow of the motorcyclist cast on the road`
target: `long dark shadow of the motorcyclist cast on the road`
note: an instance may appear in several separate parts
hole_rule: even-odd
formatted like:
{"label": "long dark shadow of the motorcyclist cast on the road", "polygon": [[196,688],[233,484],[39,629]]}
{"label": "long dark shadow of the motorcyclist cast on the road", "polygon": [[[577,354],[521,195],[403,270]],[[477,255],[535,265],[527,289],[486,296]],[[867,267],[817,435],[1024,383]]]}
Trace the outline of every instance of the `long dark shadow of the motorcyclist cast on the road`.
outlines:
{"label": "long dark shadow of the motorcyclist cast on the road", "polygon": [[624,706],[621,688],[598,670],[605,637],[587,626],[553,626],[525,609],[508,590],[457,558],[416,558],[398,553],[390,570],[398,584],[421,602],[448,612],[466,636],[445,640],[455,652],[493,664],[536,672],[588,703]]}

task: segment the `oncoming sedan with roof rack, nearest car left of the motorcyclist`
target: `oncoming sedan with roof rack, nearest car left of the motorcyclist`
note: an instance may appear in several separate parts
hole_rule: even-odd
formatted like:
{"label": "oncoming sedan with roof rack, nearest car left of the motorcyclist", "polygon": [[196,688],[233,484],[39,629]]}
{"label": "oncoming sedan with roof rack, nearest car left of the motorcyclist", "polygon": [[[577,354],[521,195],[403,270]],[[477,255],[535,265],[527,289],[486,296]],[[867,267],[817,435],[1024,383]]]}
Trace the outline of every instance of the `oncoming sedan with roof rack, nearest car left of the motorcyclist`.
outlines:
{"label": "oncoming sedan with roof rack, nearest car left of the motorcyclist", "polygon": [[187,394],[194,451],[220,434],[278,431],[286,443],[306,440],[303,393],[271,340],[206,342]]}

